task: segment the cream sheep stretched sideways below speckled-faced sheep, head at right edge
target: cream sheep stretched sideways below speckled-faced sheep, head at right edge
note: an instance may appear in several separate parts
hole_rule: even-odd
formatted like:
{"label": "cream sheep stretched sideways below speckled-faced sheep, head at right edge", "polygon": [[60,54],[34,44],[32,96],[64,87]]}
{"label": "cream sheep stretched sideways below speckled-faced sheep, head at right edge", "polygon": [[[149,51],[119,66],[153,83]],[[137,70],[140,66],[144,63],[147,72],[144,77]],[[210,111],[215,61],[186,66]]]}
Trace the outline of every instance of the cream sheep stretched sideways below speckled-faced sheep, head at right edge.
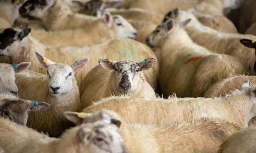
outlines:
{"label": "cream sheep stretched sideways below speckled-faced sheep, head at right edge", "polygon": [[[243,83],[240,90],[228,97],[215,98],[156,98],[147,100],[131,96],[106,97],[83,112],[95,113],[101,109],[116,111],[127,123],[161,124],[173,121],[190,121],[196,118],[220,118],[245,128],[255,116],[256,86]],[[148,113],[148,110],[152,113]],[[164,113],[163,113],[164,112]]]}

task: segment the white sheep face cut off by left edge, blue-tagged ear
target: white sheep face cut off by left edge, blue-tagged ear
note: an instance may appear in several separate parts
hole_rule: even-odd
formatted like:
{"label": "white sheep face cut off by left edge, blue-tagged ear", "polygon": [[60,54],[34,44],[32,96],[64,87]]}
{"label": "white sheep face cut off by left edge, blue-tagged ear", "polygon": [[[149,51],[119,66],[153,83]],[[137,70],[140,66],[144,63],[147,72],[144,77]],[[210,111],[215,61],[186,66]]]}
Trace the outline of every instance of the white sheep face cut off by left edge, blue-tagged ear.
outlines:
{"label": "white sheep face cut off by left edge, blue-tagged ear", "polygon": [[18,87],[15,83],[15,73],[21,73],[28,69],[31,63],[21,63],[13,66],[0,67],[0,93],[12,93],[18,95]]}

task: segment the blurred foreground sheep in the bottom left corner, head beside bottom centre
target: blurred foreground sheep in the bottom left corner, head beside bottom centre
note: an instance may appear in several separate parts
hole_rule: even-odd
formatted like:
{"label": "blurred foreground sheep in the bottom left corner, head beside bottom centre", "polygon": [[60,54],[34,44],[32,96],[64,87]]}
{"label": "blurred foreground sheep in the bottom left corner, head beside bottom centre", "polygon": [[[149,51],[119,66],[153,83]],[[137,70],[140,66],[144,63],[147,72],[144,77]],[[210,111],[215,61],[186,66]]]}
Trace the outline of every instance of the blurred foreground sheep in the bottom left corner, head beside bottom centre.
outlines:
{"label": "blurred foreground sheep in the bottom left corner, head beside bottom centre", "polygon": [[0,118],[0,146],[7,153],[129,153],[119,128],[102,120],[83,124],[52,138]]}

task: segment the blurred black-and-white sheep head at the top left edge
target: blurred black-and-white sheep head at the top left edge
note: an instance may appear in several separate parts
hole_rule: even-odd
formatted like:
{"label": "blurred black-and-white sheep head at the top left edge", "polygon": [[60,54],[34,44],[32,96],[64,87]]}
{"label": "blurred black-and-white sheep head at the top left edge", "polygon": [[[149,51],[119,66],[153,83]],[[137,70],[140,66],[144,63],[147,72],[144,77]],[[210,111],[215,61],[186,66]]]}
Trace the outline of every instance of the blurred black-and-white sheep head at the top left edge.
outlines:
{"label": "blurred black-and-white sheep head at the top left edge", "polygon": [[19,12],[22,17],[40,18],[55,3],[56,0],[28,0],[19,8]]}

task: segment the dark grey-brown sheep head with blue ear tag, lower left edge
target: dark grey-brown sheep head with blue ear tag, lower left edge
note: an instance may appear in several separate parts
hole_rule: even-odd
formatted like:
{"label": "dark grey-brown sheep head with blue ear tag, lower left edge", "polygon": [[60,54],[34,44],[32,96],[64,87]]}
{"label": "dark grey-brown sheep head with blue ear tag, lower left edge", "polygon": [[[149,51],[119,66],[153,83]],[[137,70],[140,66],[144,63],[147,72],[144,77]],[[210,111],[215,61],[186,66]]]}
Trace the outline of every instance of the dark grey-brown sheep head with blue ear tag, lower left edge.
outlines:
{"label": "dark grey-brown sheep head with blue ear tag, lower left edge", "polygon": [[0,117],[9,119],[20,125],[27,125],[28,112],[39,111],[49,108],[45,102],[35,102],[23,99],[2,99],[0,100]]}

